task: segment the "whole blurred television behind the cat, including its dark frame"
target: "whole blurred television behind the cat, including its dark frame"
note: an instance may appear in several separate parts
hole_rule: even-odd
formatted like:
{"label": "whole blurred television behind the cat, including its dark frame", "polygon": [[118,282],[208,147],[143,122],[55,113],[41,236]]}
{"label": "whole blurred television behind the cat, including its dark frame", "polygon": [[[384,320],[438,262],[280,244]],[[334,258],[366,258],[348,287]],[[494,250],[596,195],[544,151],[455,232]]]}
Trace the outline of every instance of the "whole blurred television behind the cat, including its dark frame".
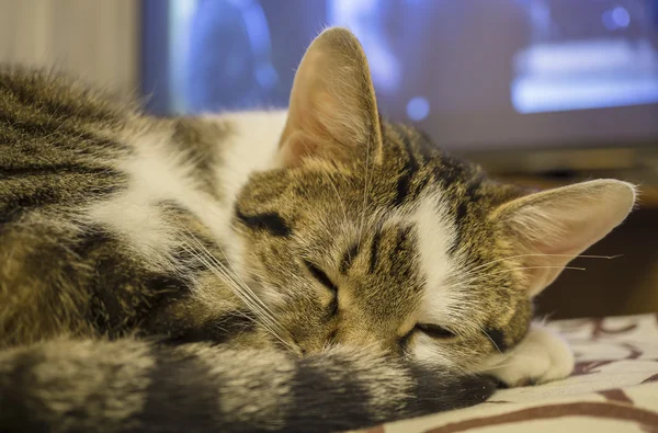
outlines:
{"label": "whole blurred television behind the cat, including its dark frame", "polygon": [[658,0],[150,0],[154,113],[284,107],[328,25],[350,27],[387,116],[449,148],[658,137]]}

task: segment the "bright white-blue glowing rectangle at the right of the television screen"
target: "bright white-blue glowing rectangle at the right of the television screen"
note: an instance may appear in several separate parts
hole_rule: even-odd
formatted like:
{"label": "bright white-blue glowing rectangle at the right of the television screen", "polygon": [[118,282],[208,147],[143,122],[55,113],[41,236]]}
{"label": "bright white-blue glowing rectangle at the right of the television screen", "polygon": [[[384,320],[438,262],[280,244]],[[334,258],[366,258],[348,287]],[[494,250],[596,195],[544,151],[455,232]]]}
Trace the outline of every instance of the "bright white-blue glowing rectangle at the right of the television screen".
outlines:
{"label": "bright white-blue glowing rectangle at the right of the television screen", "polygon": [[537,45],[518,59],[511,86],[520,113],[658,102],[658,53],[646,41],[601,38]]}

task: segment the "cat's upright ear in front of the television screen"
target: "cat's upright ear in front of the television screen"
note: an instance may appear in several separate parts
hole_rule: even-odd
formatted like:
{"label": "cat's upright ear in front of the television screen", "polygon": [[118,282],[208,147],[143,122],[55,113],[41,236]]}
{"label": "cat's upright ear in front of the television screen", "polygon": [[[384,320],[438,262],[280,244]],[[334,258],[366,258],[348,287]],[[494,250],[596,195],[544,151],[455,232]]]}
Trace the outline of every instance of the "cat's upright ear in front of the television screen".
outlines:
{"label": "cat's upright ear in front of the television screen", "polygon": [[308,156],[348,160],[355,147],[382,137],[367,60],[345,29],[322,32],[295,75],[288,117],[280,141],[280,163],[298,166]]}

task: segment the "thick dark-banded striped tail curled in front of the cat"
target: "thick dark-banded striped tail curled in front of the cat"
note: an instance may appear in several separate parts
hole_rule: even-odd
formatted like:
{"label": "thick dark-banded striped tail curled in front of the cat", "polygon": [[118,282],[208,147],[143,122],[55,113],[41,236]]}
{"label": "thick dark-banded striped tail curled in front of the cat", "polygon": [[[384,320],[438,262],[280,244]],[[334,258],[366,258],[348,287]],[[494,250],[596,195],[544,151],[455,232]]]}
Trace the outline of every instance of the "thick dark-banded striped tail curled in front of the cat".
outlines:
{"label": "thick dark-banded striped tail curled in front of the cat", "polygon": [[0,354],[0,430],[342,431],[483,401],[492,385],[367,350],[281,351],[122,339]]}

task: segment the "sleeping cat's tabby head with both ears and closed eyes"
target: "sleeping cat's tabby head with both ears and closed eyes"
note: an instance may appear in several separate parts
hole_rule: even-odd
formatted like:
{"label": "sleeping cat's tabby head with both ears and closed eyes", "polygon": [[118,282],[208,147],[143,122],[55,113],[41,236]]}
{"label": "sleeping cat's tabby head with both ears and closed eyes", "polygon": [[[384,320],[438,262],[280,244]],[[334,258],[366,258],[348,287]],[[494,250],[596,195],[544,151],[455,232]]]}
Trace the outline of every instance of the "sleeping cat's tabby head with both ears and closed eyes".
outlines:
{"label": "sleeping cat's tabby head with both ears and closed eyes", "polygon": [[341,29],[299,66],[279,163],[243,187],[235,227],[243,278],[300,353],[373,345],[472,368],[523,338],[532,298],[635,200],[612,180],[498,184],[382,121]]}

